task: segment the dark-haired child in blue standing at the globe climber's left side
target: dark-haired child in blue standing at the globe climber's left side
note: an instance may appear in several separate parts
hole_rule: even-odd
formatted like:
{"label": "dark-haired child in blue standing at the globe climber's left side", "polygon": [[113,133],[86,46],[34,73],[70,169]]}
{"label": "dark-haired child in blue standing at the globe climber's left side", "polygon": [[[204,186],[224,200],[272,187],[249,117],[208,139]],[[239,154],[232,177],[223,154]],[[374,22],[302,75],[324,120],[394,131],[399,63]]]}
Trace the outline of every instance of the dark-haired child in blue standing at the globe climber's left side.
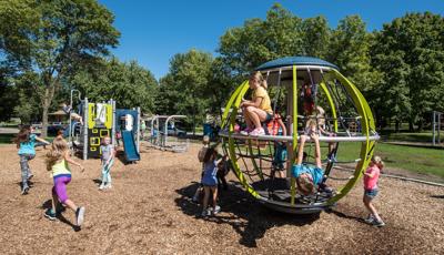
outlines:
{"label": "dark-haired child in blue standing at the globe climber's left side", "polygon": [[[213,147],[209,147],[206,150],[205,156],[203,159],[204,163],[204,172],[203,172],[203,177],[202,177],[202,184],[203,184],[203,191],[204,191],[204,196],[203,196],[203,207],[202,207],[202,216],[206,217],[211,214],[215,215],[221,211],[221,207],[216,205],[218,203],[218,164],[219,162],[216,161],[218,152]],[[210,200],[210,193],[213,194],[213,208],[210,208],[209,205],[209,200]]]}

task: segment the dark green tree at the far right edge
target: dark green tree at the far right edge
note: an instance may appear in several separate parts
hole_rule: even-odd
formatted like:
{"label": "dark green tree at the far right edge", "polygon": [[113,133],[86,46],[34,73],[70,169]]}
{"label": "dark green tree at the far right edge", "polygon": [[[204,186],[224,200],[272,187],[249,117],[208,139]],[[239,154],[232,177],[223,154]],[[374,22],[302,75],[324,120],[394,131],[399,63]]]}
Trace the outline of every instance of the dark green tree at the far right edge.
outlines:
{"label": "dark green tree at the far right edge", "polygon": [[391,108],[402,114],[395,118],[407,120],[411,131],[414,124],[421,130],[431,111],[444,106],[444,18],[431,12],[407,13],[384,24],[376,41],[374,67],[384,72],[385,83],[391,82],[387,90],[397,86],[393,95],[400,98],[398,104]]}

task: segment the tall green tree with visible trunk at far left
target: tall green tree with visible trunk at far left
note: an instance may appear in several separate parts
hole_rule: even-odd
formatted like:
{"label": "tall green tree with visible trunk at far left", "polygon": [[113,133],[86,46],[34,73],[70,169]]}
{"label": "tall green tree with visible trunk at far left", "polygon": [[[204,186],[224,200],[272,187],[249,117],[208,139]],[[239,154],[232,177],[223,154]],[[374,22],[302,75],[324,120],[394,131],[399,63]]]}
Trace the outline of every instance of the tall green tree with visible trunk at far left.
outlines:
{"label": "tall green tree with visible trunk at far left", "polygon": [[38,74],[33,89],[46,136],[48,111],[63,80],[118,44],[114,17],[94,0],[2,0],[0,6],[0,17],[10,19],[0,24],[3,61],[17,72]]}

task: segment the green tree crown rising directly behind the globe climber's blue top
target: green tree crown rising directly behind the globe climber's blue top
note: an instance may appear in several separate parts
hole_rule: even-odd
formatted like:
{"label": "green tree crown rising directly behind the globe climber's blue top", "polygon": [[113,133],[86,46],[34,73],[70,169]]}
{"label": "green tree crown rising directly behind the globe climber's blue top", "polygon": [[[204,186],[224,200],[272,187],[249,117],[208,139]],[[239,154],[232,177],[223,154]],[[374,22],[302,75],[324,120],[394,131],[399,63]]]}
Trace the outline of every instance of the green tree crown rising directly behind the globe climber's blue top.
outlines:
{"label": "green tree crown rising directly behind the globe climber's blue top", "polygon": [[265,20],[246,20],[243,27],[228,30],[218,51],[233,76],[244,76],[266,61],[302,54],[302,19],[275,3]]}

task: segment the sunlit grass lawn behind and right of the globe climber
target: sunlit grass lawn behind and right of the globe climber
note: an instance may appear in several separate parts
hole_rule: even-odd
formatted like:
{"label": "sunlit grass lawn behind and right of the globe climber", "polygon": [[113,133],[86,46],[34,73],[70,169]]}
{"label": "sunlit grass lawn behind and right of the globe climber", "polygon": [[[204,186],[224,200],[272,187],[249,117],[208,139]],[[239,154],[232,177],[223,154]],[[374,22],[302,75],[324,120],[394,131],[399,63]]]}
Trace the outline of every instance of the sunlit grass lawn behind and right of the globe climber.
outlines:
{"label": "sunlit grass lawn behind and right of the globe climber", "polygon": [[[361,151],[360,146],[361,144],[341,143],[337,160],[351,161],[357,159]],[[383,159],[387,167],[444,177],[444,150],[377,143],[375,154]]]}

